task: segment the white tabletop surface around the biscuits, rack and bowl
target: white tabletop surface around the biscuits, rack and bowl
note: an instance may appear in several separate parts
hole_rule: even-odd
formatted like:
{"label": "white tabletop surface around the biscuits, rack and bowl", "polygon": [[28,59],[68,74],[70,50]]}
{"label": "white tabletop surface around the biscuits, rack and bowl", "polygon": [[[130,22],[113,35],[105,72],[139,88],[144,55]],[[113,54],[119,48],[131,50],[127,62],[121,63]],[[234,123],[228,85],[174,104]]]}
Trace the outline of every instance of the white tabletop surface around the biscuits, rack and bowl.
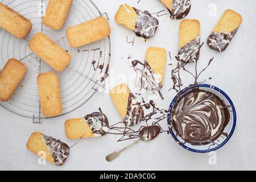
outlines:
{"label": "white tabletop surface around the biscuits, rack and bowl", "polygon": [[[166,8],[158,0],[93,0],[102,12],[106,12],[110,18],[112,27],[118,26],[114,21],[114,14],[121,3],[127,3],[141,10],[155,13]],[[167,134],[162,134],[152,142],[138,143],[124,152],[112,163],[105,160],[105,155],[118,150],[125,144],[132,142],[117,143],[118,136],[107,135],[102,138],[84,139],[71,148],[71,153],[63,167],[57,167],[50,163],[39,165],[38,157],[26,148],[26,142],[30,134],[40,131],[44,134],[60,138],[69,146],[76,140],[65,137],[64,122],[68,118],[81,117],[85,114],[97,111],[98,107],[107,113],[110,124],[121,121],[117,110],[110,100],[109,94],[97,93],[88,103],[79,110],[64,117],[48,119],[42,125],[32,124],[31,119],[18,117],[0,108],[0,169],[30,169],[30,170],[170,170],[170,169],[255,169],[256,168],[256,124],[255,124],[255,89],[256,89],[256,63],[255,63],[255,15],[256,1],[254,0],[191,0],[192,9],[188,19],[199,19],[201,22],[201,41],[205,42],[210,31],[213,29],[225,9],[233,9],[243,16],[243,22],[232,43],[225,52],[218,53],[211,50],[205,44],[200,52],[200,67],[208,63],[211,56],[215,59],[209,69],[202,75],[201,79],[207,83],[214,84],[224,90],[232,98],[237,109],[237,127],[233,137],[224,147],[217,150],[217,164],[208,163],[208,154],[196,154],[184,150],[174,139]],[[209,16],[209,4],[215,3],[217,15]],[[126,43],[126,33],[112,28],[112,60],[110,64],[110,87],[118,82],[127,82],[133,85],[133,80],[127,81],[127,75],[134,75],[131,60],[143,60],[147,47],[164,47],[172,53],[172,59],[177,53],[179,22],[170,20],[169,16],[158,18],[160,26],[156,35],[146,43],[135,36],[135,44]],[[129,31],[129,39],[133,39],[133,32]],[[131,59],[127,57],[131,53]],[[123,59],[121,59],[123,57]],[[167,57],[167,64],[170,60]],[[164,81],[164,101],[158,103],[168,108],[172,98],[175,96],[171,88],[171,68],[166,66],[166,77]],[[132,76],[131,76],[132,77]],[[208,80],[212,77],[213,80]],[[184,84],[188,84],[190,78],[184,77]],[[167,122],[162,125],[167,128]]]}

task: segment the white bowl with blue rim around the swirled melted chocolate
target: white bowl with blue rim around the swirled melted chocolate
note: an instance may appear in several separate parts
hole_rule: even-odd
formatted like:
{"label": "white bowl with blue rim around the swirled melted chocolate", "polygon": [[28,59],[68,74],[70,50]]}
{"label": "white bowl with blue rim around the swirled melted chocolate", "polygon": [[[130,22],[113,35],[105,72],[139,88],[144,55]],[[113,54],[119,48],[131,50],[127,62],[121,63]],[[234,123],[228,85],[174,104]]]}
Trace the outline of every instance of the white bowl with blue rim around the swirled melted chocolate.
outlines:
{"label": "white bowl with blue rim around the swirled melted chocolate", "polygon": [[[188,90],[191,90],[193,88],[195,88],[195,85],[188,86],[187,88],[181,90],[181,92],[177,94],[177,96],[174,98],[174,100],[172,100],[169,110],[172,110],[172,107],[174,107],[175,102],[177,101],[178,97],[182,96]],[[229,108],[229,114],[230,114],[229,123],[224,129],[224,133],[228,134],[228,137],[226,137],[225,135],[221,135],[219,138],[214,140],[214,142],[212,142],[212,143],[201,145],[201,146],[194,146],[192,144],[185,143],[184,140],[181,137],[179,137],[179,135],[177,135],[177,137],[176,137],[176,131],[174,130],[174,127],[172,127],[172,123],[171,123],[171,116],[172,116],[171,113],[168,114],[167,121],[168,121],[169,131],[170,131],[172,137],[175,139],[175,141],[177,143],[180,144],[180,146],[182,146],[183,148],[185,148],[189,151],[192,151],[192,152],[206,153],[206,152],[217,150],[218,148],[221,148],[222,146],[224,146],[224,144],[226,144],[226,142],[228,142],[228,140],[232,137],[232,135],[234,133],[234,129],[236,127],[237,115],[236,115],[236,109],[234,107],[232,100],[221,89],[217,88],[216,86],[208,85],[208,84],[197,84],[197,88],[200,88],[202,90],[207,90],[209,92],[216,94],[216,96],[220,97],[221,100],[223,100],[226,105],[231,106]]]}

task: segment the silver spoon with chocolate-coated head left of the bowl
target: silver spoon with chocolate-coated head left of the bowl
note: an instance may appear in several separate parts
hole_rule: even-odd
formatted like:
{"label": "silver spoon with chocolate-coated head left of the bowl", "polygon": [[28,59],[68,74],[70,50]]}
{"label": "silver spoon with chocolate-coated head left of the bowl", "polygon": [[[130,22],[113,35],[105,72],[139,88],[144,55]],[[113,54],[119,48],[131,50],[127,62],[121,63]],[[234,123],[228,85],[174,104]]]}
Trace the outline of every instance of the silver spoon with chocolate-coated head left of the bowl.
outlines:
{"label": "silver spoon with chocolate-coated head left of the bowl", "polygon": [[150,141],[152,139],[155,139],[158,137],[161,129],[159,126],[148,126],[144,127],[140,132],[139,132],[139,139],[135,140],[133,143],[129,144],[129,146],[123,148],[122,150],[119,151],[114,151],[113,153],[109,154],[106,156],[106,160],[108,162],[111,162],[115,158],[117,158],[123,151],[125,151],[127,148],[133,146],[134,144],[138,143],[140,140],[146,142]]}

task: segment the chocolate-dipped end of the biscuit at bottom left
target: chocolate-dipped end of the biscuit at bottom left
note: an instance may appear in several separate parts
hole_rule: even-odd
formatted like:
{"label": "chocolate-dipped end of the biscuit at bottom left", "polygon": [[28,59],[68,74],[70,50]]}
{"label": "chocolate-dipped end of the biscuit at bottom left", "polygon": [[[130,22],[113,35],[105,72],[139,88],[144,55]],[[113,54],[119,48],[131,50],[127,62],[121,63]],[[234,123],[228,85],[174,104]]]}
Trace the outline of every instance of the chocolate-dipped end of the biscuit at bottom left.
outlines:
{"label": "chocolate-dipped end of the biscuit at bottom left", "polygon": [[[43,134],[42,134],[43,135]],[[69,155],[69,147],[64,142],[57,140],[53,137],[48,137],[43,135],[44,142],[51,153],[55,165],[62,166],[68,158]]]}

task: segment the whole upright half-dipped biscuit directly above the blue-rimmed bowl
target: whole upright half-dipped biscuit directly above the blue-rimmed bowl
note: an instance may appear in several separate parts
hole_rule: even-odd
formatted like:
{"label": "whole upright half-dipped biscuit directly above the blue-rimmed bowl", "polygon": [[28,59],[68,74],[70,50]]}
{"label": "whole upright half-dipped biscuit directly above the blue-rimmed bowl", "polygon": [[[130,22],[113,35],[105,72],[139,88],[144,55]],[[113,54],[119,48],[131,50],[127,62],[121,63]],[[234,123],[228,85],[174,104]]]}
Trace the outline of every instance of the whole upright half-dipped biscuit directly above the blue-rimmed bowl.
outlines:
{"label": "whole upright half-dipped biscuit directly above the blue-rimmed bowl", "polygon": [[184,19],[180,23],[178,59],[190,63],[199,59],[200,22],[196,19]]}

